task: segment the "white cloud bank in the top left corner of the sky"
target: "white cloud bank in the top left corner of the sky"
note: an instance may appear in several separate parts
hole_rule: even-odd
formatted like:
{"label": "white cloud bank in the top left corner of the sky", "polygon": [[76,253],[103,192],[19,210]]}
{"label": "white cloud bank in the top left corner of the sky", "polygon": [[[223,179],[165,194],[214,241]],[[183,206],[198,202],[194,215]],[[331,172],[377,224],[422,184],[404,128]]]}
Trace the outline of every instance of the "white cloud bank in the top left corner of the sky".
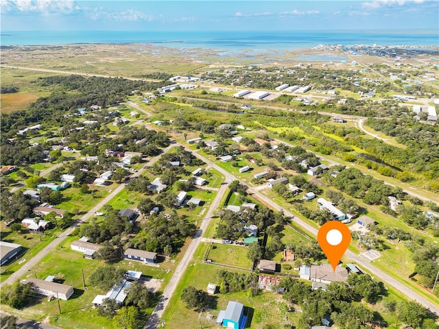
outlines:
{"label": "white cloud bank in the top left corner of the sky", "polygon": [[73,0],[1,0],[4,12],[39,12],[41,14],[71,14],[81,10]]}

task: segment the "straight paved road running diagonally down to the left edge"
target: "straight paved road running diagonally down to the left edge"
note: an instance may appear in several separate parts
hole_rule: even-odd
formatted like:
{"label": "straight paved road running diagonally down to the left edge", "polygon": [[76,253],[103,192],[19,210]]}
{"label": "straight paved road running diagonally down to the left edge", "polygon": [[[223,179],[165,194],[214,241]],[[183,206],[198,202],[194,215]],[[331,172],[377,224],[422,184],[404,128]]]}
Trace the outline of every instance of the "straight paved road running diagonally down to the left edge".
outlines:
{"label": "straight paved road running diagonally down to the left edge", "polygon": [[[169,151],[169,149],[171,149],[171,147],[174,147],[174,146],[176,146],[176,145],[169,145],[168,147],[166,147],[163,150],[163,153]],[[152,164],[154,164],[154,162],[156,162],[160,157],[161,157],[161,154],[152,158],[150,160],[150,162],[147,162],[145,167],[152,166]],[[134,175],[132,175],[132,177],[138,177],[139,175],[141,175],[141,173],[143,173],[143,171],[145,170],[145,167],[143,167],[142,169],[137,171],[137,173],[134,173]],[[117,195],[117,193],[122,191],[123,188],[125,188],[125,184],[121,184],[121,185],[117,186],[117,188],[115,188],[113,191],[111,191],[111,193],[109,195],[107,195],[96,206],[94,206],[90,211],[88,211],[84,216],[82,216],[82,218],[78,222],[76,222],[75,225],[71,226],[70,228],[68,228],[67,230],[62,232],[62,234],[60,234],[58,236],[58,238],[54,239],[54,241],[51,241],[51,243],[49,243],[49,245],[47,245],[43,250],[41,250],[38,254],[36,254],[31,259],[29,259],[27,261],[27,263],[25,263],[25,265],[23,265],[18,271],[13,273],[12,276],[10,276],[9,278],[7,278],[3,282],[1,282],[0,287],[2,287],[4,284],[12,284],[16,280],[19,280],[20,278],[25,276],[25,274],[28,272],[29,269],[32,269],[32,267],[34,267],[38,263],[40,263],[40,261],[45,256],[47,256],[52,250],[54,250],[58,245],[60,245],[60,243],[62,243],[62,241],[64,241],[64,239],[67,236],[69,236],[69,234],[71,234],[71,232],[73,232],[73,230],[75,230],[76,227],[80,226],[82,223],[84,223],[84,221],[88,221],[88,219],[90,219],[92,216],[95,215],[95,212],[97,212],[97,210],[102,208],[104,205],[108,204],[108,202],[110,202],[110,200],[113,197],[115,197]]]}

